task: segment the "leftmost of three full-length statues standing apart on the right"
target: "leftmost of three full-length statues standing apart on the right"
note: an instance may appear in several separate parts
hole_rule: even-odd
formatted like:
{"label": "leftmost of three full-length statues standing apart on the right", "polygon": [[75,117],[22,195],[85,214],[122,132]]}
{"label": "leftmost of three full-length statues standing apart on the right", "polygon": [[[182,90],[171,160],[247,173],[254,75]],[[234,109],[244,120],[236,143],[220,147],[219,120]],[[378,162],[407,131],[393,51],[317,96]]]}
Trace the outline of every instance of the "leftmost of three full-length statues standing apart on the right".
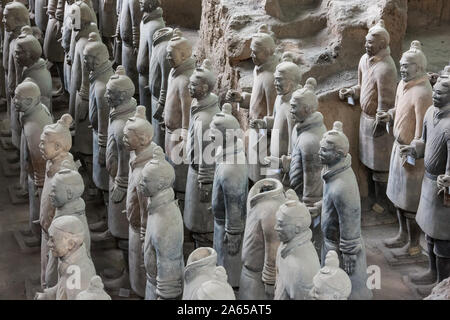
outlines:
{"label": "leftmost of three full-length statues standing apart on the right", "polygon": [[393,139],[386,132],[385,124],[376,120],[376,113],[388,111],[395,103],[397,69],[389,41],[384,21],[380,20],[366,36],[366,54],[359,61],[358,84],[339,92],[342,100],[348,99],[354,105],[354,99],[359,99],[361,104],[359,159],[370,170],[374,182],[376,203],[373,208],[381,206],[384,210],[389,210],[390,206],[386,186]]}

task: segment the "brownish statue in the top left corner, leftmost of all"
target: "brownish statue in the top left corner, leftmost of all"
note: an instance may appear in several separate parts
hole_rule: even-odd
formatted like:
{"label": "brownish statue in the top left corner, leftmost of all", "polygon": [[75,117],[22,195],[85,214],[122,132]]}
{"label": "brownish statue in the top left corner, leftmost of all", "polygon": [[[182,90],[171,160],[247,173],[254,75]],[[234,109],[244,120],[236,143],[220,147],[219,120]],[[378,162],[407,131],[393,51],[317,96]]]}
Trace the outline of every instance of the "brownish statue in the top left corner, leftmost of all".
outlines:
{"label": "brownish statue in the top left corner, leftmost of all", "polygon": [[6,100],[11,123],[11,142],[17,150],[20,148],[20,125],[18,114],[11,102],[16,86],[20,83],[22,74],[15,59],[17,37],[23,26],[30,25],[28,9],[20,2],[9,2],[3,10],[3,23],[5,24],[5,41],[3,43],[3,68],[5,69]]}

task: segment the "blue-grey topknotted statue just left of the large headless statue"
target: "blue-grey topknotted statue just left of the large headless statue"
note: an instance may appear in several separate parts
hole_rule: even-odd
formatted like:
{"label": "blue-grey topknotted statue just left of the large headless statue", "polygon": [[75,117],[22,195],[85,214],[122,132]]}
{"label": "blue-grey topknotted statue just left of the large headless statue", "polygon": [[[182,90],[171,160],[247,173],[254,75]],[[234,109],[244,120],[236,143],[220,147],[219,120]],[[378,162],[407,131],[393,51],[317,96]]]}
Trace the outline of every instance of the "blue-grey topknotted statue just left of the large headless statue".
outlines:
{"label": "blue-grey topknotted statue just left of the large headless statue", "polygon": [[218,264],[227,270],[228,281],[239,287],[242,238],[247,215],[248,168],[244,143],[238,137],[240,125],[226,103],[214,116],[210,132],[217,147],[216,171],[212,189],[214,214],[213,247]]}

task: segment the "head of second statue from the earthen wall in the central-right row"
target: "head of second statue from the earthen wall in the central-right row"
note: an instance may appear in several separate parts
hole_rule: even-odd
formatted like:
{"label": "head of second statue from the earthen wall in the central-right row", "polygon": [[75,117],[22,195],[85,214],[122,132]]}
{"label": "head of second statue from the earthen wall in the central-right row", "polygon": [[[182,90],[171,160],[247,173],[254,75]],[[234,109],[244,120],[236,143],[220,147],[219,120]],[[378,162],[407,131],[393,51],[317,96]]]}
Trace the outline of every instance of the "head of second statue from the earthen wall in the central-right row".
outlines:
{"label": "head of second statue from the earthen wall in the central-right row", "polygon": [[300,85],[301,77],[302,73],[299,66],[293,62],[292,54],[285,52],[274,73],[277,94],[284,96],[294,92]]}

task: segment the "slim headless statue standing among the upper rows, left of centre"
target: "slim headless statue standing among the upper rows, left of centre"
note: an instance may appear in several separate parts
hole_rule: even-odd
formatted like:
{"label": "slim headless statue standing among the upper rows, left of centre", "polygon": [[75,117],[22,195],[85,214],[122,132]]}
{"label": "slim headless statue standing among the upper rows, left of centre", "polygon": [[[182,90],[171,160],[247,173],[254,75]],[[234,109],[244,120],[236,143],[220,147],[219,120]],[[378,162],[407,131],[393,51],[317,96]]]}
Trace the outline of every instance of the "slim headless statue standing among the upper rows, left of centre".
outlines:
{"label": "slim headless statue standing among the upper rows, left of centre", "polygon": [[[162,28],[153,34],[153,49],[150,57],[149,89],[152,95],[151,122],[155,132],[153,142],[165,148],[163,111],[166,105],[170,64],[166,59],[167,44],[173,36],[172,28]],[[148,116],[147,116],[147,119]]]}

